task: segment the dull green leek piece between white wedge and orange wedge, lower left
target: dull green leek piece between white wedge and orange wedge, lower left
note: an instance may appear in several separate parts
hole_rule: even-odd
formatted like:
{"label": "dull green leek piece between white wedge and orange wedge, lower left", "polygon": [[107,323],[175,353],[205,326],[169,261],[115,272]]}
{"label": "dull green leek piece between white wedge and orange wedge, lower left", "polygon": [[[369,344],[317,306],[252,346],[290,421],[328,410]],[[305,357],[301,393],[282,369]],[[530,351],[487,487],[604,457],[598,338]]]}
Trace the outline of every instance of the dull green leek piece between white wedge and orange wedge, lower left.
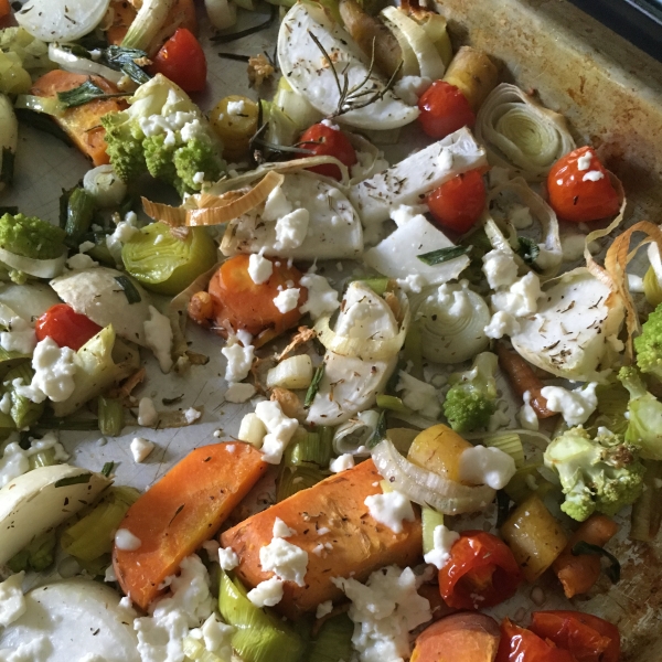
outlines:
{"label": "dull green leek piece between white wedge and orange wedge, lower left", "polygon": [[110,488],[104,498],[60,538],[62,548],[84,562],[92,562],[113,549],[113,532],[140,493],[134,488]]}

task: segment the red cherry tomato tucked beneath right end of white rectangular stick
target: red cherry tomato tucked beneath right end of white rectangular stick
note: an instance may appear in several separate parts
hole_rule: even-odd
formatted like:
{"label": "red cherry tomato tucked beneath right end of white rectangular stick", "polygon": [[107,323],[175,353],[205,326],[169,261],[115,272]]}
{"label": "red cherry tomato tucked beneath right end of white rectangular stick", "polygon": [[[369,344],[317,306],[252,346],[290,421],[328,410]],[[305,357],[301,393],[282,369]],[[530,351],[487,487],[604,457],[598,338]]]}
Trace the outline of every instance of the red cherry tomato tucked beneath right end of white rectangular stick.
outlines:
{"label": "red cherry tomato tucked beneath right end of white rectangular stick", "polygon": [[428,193],[426,204],[441,228],[466,233],[485,209],[485,183],[480,170],[469,170]]}

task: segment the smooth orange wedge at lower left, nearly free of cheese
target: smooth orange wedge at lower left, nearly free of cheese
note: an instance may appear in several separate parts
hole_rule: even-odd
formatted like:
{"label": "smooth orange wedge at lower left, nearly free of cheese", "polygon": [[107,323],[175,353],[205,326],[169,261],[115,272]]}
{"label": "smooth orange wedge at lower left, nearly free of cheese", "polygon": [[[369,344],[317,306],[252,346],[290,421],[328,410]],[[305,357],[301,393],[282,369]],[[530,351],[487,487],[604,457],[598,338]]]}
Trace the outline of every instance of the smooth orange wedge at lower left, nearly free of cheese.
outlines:
{"label": "smooth orange wedge at lower left, nearly free of cheese", "polygon": [[119,528],[140,540],[113,549],[122,590],[146,609],[183,558],[210,540],[268,465],[249,444],[214,444],[190,452],[128,510]]}

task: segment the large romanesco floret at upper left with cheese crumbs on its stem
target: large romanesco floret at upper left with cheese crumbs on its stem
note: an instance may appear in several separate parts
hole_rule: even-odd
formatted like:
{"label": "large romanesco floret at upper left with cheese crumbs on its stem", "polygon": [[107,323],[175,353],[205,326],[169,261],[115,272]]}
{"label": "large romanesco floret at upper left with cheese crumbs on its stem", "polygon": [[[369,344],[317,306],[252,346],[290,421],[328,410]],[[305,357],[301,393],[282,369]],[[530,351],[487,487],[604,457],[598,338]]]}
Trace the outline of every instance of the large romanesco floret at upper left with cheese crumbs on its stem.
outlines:
{"label": "large romanesco floret at upper left with cheese crumbs on its stem", "polygon": [[130,104],[102,118],[110,163],[124,181],[149,172],[183,196],[221,177],[221,143],[174,83],[157,74],[136,90]]}

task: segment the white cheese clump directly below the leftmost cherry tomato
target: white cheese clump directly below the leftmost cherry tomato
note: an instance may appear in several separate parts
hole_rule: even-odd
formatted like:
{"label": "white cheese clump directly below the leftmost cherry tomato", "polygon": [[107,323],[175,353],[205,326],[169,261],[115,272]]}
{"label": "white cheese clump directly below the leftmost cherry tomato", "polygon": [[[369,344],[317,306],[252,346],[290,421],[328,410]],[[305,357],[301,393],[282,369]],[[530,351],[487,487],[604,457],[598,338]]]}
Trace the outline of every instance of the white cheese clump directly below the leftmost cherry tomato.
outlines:
{"label": "white cheese clump directly below the leftmost cherry tomato", "polygon": [[32,383],[28,386],[18,385],[17,393],[33,403],[43,403],[46,397],[54,403],[64,402],[76,387],[75,355],[72,349],[60,348],[52,338],[44,338],[36,343],[32,355]]}

